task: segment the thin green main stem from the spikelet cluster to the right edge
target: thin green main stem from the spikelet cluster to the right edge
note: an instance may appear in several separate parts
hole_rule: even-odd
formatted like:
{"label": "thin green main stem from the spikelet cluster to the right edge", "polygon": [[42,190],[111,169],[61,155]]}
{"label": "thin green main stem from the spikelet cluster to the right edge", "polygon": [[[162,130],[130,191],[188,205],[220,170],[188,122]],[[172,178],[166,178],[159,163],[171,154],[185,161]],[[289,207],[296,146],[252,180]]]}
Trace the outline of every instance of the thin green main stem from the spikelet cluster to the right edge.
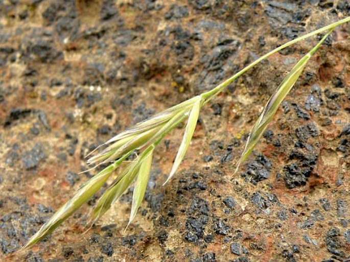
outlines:
{"label": "thin green main stem from the spikelet cluster to the right edge", "polygon": [[243,75],[245,72],[247,72],[247,70],[249,70],[251,67],[253,67],[254,65],[260,63],[262,60],[264,60],[265,58],[271,56],[272,54],[278,52],[278,51],[281,51],[282,49],[296,43],[296,42],[299,42],[301,40],[304,40],[310,36],[313,36],[313,35],[316,35],[316,34],[319,34],[323,31],[327,31],[327,30],[333,30],[334,28],[342,25],[343,23],[346,23],[350,21],[350,16],[340,20],[340,21],[337,21],[337,22],[334,22],[334,23],[331,23],[331,25],[328,25],[328,26],[325,26],[325,27],[322,27],[316,31],[313,31],[311,33],[308,33],[306,35],[303,35],[303,36],[300,36],[298,38],[295,38],[294,40],[292,41],[289,41],[288,43],[285,43],[281,46],[278,46],[276,49],[270,51],[269,53],[265,54],[264,56],[256,59],[254,62],[252,62],[251,64],[249,64],[248,66],[244,67],[242,70],[240,70],[238,73],[236,73],[234,76],[230,77],[229,79],[225,80],[224,82],[222,82],[221,84],[217,85],[216,87],[214,87],[212,90],[209,90],[205,93],[202,93],[201,96],[202,98],[204,98],[205,102],[203,104],[206,104],[207,102],[211,101],[214,97],[217,96],[217,94],[219,94],[227,85],[229,85],[230,83],[232,83],[233,81],[235,81],[238,77],[240,77],[241,75]]}

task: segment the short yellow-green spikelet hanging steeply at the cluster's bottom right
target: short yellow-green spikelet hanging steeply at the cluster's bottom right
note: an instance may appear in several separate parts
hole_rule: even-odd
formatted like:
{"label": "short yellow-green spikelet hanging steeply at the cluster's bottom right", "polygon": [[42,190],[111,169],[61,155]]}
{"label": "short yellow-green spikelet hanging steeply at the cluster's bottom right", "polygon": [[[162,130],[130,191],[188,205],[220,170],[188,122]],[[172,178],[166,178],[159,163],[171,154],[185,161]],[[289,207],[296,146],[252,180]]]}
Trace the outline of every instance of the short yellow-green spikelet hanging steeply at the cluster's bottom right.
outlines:
{"label": "short yellow-green spikelet hanging steeply at the cluster's bottom right", "polygon": [[152,158],[153,158],[153,150],[145,157],[145,160],[142,162],[138,170],[136,184],[132,195],[130,219],[127,227],[134,220],[137,209],[141,205],[142,200],[144,199],[148,179],[150,178]]}

